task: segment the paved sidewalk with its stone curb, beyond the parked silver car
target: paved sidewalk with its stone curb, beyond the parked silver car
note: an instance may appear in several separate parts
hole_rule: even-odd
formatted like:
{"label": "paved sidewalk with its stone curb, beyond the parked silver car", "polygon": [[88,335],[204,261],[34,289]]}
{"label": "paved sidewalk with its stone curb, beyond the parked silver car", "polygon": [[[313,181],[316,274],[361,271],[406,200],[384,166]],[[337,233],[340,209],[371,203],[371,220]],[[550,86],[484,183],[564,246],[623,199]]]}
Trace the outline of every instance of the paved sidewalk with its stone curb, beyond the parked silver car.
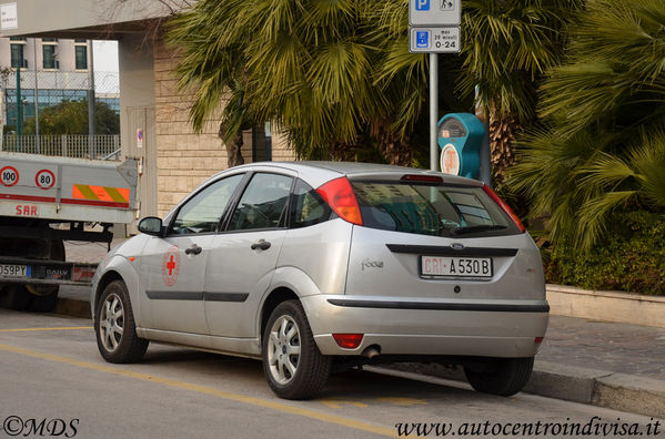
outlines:
{"label": "paved sidewalk with its stone curb, beyond the parked silver car", "polygon": [[[66,249],[77,262],[99,262],[107,253],[102,244],[66,243]],[[89,317],[89,294],[62,290],[58,312]],[[462,370],[439,365],[396,368],[464,380]],[[665,419],[665,329],[551,315],[525,391]]]}

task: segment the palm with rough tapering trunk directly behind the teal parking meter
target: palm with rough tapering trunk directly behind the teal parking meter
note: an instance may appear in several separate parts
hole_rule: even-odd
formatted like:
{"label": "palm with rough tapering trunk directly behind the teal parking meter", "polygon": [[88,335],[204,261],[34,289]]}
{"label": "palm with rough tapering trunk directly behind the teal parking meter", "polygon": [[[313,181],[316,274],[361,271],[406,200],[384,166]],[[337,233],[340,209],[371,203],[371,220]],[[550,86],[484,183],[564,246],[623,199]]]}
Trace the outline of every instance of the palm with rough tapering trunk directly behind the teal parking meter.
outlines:
{"label": "palm with rough tapering trunk directly behind the teal parking meter", "polygon": [[536,89],[558,65],[582,0],[464,0],[460,91],[488,115],[496,183],[515,161],[514,140],[533,123]]}

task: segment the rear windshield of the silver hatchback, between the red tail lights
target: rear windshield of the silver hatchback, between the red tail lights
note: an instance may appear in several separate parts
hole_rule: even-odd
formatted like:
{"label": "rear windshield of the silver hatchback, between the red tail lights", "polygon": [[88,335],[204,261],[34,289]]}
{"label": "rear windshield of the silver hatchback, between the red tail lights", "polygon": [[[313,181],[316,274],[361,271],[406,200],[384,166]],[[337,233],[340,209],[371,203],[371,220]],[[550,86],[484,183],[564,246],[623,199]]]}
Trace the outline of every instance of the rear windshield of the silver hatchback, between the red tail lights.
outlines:
{"label": "rear windshield of the silver hatchback, between the red tail lights", "polygon": [[351,181],[365,227],[432,236],[518,234],[477,186]]}

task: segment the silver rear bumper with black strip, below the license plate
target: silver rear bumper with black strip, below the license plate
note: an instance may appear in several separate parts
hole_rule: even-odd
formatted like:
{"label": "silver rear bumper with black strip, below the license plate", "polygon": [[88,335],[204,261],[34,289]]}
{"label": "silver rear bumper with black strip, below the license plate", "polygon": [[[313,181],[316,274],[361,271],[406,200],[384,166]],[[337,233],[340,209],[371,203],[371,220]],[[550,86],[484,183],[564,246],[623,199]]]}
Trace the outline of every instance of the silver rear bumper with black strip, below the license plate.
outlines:
{"label": "silver rear bumper with black strip, below the license plate", "polygon": [[[316,295],[302,298],[314,340],[324,355],[532,357],[547,329],[546,300],[450,300]],[[343,349],[332,334],[364,334]]]}

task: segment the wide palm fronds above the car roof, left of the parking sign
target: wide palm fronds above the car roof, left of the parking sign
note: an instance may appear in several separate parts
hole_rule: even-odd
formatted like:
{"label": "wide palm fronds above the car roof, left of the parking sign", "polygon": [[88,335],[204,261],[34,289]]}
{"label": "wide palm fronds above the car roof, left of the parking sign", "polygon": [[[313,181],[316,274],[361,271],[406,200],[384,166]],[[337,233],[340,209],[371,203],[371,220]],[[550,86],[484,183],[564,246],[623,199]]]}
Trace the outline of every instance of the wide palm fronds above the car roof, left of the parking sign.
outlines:
{"label": "wide palm fronds above the car roof, left of the parking sign", "polygon": [[[182,57],[180,85],[193,90],[194,127],[226,98],[234,103],[223,110],[226,139],[246,125],[242,121],[270,120],[301,157],[352,159],[377,147],[389,163],[410,164],[410,129],[426,91],[424,57],[411,55],[400,72],[376,69],[385,60],[373,22],[381,16],[383,27],[405,38],[406,4],[199,1],[171,21],[168,33]],[[389,8],[399,13],[384,12]]]}

